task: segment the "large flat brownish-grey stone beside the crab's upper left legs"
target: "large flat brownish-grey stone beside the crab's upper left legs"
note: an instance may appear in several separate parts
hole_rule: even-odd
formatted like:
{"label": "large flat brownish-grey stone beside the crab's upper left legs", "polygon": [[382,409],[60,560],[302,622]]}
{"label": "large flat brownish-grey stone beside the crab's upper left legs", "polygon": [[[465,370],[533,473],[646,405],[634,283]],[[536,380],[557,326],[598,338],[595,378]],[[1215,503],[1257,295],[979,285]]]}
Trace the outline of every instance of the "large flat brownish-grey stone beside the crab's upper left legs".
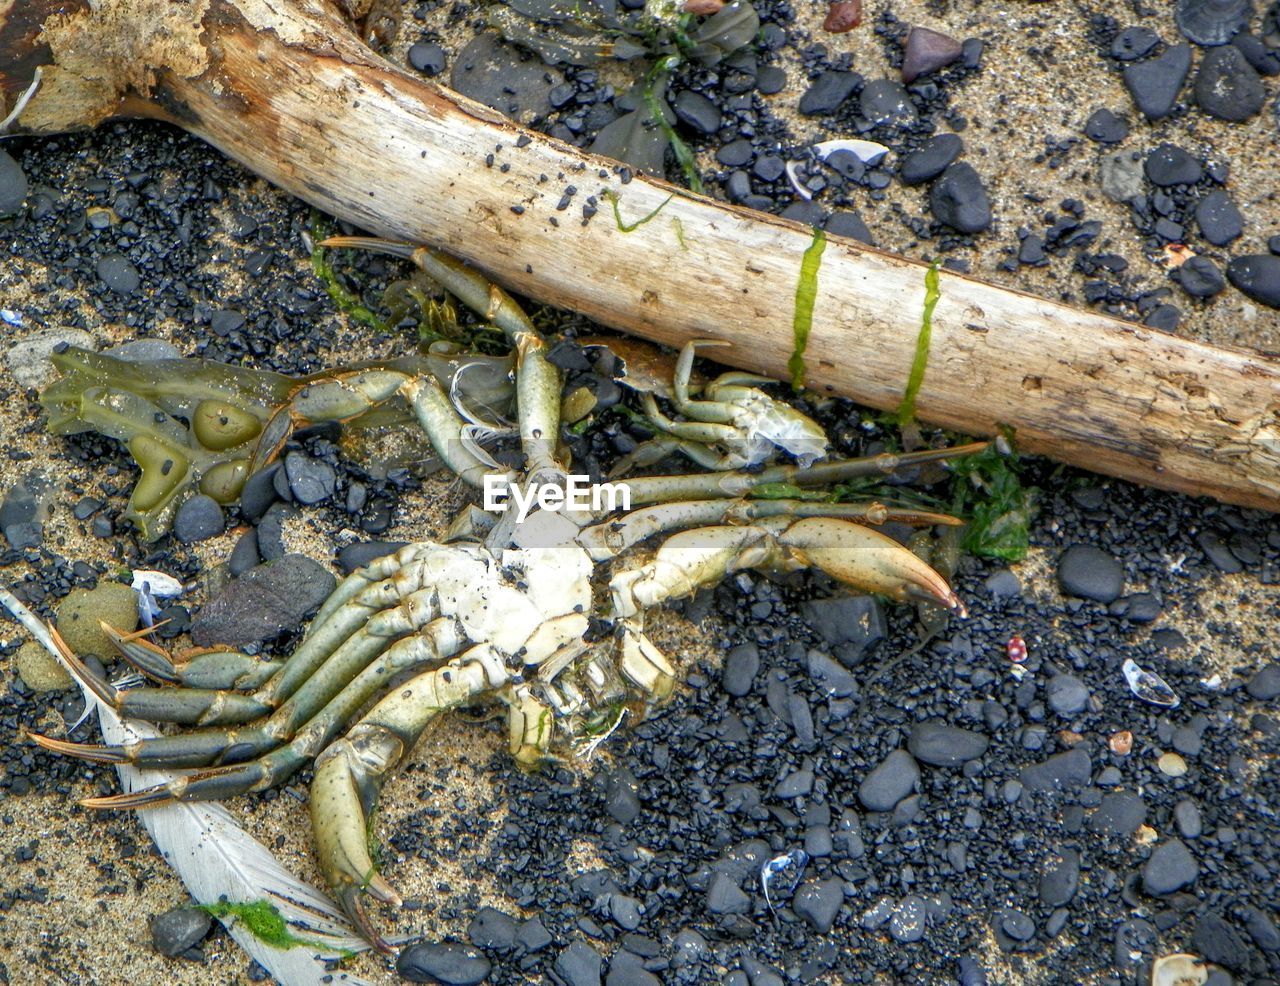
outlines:
{"label": "large flat brownish-grey stone beside the crab's upper left legs", "polygon": [[191,625],[196,647],[241,647],[296,630],[329,598],[337,580],[303,554],[259,565],[215,595]]}

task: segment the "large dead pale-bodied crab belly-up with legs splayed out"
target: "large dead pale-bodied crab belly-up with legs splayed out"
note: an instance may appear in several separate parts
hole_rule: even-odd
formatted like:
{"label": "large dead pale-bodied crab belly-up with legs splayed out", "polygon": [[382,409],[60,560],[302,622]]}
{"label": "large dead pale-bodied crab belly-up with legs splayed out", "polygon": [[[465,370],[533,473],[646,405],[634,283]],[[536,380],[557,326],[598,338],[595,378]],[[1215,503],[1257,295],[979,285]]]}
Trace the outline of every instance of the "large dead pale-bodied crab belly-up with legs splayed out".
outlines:
{"label": "large dead pale-bodied crab belly-up with legs splayed out", "polygon": [[[352,388],[348,378],[340,387],[353,400],[344,410],[371,393],[398,393],[462,480],[504,484],[512,498],[541,489],[563,501],[572,479],[558,442],[562,382],[518,305],[436,251],[364,238],[334,242],[411,257],[507,334],[516,351],[522,466],[495,470],[463,440],[467,424],[431,374],[402,373],[396,382],[396,370],[383,366],[374,388]],[[687,348],[677,392],[691,360]],[[742,376],[714,393],[730,405],[759,406]],[[690,402],[681,405],[692,414]],[[77,674],[120,715],[196,729],[123,745],[33,739],[100,763],[193,768],[161,785],[83,802],[104,809],[220,800],[280,784],[314,761],[310,808],[320,869],[361,932],[389,950],[367,900],[397,905],[401,898],[371,855],[370,820],[383,786],[430,722],[448,709],[498,703],[507,709],[509,749],[520,764],[571,758],[625,713],[645,716],[675,688],[675,665],[645,634],[646,612],[744,569],[814,567],[864,592],[963,613],[937,571],[874,530],[890,520],[924,526],[954,519],[881,503],[753,499],[751,492],[822,487],[982,447],[641,476],[627,481],[626,507],[556,508],[557,496],[545,493],[524,519],[513,510],[471,507],[440,540],[410,544],[349,575],[283,663],[218,652],[179,666],[142,639],[114,631],[125,658],[157,686],[116,688],[76,662]],[[646,551],[658,538],[659,547]]]}

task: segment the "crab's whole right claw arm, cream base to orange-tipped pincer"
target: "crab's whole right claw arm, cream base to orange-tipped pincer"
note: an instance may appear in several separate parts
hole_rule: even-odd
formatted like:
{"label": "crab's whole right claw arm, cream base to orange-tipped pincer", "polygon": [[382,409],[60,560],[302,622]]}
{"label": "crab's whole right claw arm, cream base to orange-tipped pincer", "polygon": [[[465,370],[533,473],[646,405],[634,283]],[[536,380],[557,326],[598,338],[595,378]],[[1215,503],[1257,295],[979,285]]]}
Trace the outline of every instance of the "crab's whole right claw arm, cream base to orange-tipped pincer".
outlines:
{"label": "crab's whole right claw arm, cream base to orange-tipped pincer", "polygon": [[739,569],[810,566],[867,592],[893,599],[919,595],[963,611],[946,580],[896,540],[861,524],[829,517],[773,517],[750,526],[675,534],[652,562],[616,575],[609,592],[618,616],[631,617],[713,585]]}

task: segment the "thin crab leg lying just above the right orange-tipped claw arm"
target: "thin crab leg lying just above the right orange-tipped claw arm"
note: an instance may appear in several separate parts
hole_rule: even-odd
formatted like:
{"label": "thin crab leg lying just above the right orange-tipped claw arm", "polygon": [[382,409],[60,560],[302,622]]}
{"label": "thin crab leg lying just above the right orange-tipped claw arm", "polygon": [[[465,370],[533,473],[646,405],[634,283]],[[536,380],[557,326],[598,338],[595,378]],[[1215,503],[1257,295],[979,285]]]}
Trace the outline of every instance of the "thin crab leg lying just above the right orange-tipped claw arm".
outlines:
{"label": "thin crab leg lying just above the right orange-tipped claw arm", "polygon": [[823,503],[808,499],[690,499],[640,507],[622,517],[584,528],[575,540],[593,561],[607,561],[636,544],[681,528],[707,528],[719,524],[750,524],[763,517],[844,517],[861,524],[895,521],[911,526],[964,521],[946,513],[886,507],[883,503]]}

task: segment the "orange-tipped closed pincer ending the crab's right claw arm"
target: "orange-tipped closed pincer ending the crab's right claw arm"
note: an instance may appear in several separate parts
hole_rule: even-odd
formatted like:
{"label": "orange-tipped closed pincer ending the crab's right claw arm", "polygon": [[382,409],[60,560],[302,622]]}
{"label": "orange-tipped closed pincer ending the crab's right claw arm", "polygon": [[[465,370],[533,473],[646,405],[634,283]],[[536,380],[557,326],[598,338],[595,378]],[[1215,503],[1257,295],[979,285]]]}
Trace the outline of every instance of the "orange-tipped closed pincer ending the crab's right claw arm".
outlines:
{"label": "orange-tipped closed pincer ending the crab's right claw arm", "polygon": [[946,579],[892,538],[861,524],[806,517],[790,524],[777,538],[796,562],[822,569],[842,583],[892,599],[923,598],[966,615]]}

